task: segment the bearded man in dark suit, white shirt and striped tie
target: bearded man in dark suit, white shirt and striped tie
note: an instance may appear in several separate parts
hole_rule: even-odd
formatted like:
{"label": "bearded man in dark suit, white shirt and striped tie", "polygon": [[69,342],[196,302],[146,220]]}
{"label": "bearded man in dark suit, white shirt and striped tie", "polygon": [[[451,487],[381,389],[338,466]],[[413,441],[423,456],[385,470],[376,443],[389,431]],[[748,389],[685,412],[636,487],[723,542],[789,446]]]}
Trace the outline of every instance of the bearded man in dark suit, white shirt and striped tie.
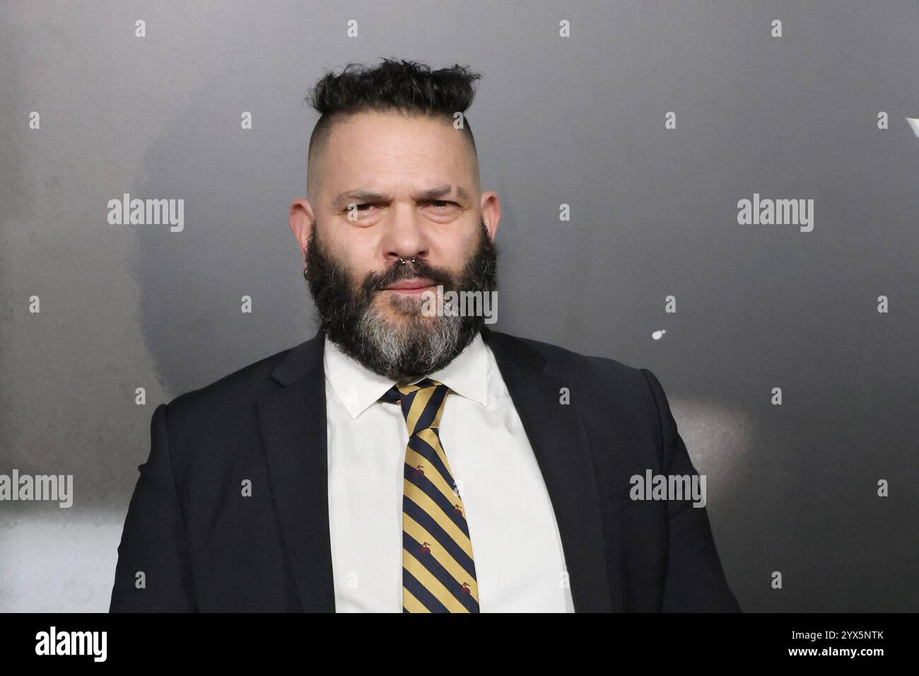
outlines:
{"label": "bearded man in dark suit, white shirt and striped tie", "polygon": [[289,223],[321,329],[157,407],[111,611],[739,610],[704,507],[631,499],[696,475],[651,372],[431,311],[495,288],[478,77],[316,85]]}

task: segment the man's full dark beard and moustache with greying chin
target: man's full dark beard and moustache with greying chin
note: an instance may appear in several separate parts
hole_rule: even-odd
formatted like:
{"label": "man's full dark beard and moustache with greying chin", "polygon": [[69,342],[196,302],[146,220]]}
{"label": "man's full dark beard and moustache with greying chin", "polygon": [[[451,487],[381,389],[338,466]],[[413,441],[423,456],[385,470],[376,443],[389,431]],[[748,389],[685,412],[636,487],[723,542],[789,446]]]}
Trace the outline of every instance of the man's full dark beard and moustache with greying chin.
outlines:
{"label": "man's full dark beard and moustache with greying chin", "polygon": [[459,274],[422,260],[406,260],[357,281],[344,263],[325,251],[314,223],[304,277],[325,335],[346,355],[394,381],[445,367],[482,330],[484,316],[425,316],[422,294],[387,293],[379,302],[377,298],[382,289],[413,277],[443,286],[444,293],[494,291],[497,250],[483,219],[480,225],[479,241]]}

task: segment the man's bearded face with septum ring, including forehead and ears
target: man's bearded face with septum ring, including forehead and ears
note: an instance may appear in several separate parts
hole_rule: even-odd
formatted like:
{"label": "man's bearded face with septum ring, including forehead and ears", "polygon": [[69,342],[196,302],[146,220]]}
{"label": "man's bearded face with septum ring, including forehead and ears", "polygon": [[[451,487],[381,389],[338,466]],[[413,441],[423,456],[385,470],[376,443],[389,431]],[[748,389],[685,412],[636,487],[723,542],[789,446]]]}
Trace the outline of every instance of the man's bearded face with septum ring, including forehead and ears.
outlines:
{"label": "man's bearded face with septum ring, including forehead and ears", "polygon": [[335,125],[311,172],[311,199],[294,202],[290,226],[328,337],[395,380],[452,361],[482,317],[425,316],[422,293],[494,290],[500,218],[462,133],[360,113]]}

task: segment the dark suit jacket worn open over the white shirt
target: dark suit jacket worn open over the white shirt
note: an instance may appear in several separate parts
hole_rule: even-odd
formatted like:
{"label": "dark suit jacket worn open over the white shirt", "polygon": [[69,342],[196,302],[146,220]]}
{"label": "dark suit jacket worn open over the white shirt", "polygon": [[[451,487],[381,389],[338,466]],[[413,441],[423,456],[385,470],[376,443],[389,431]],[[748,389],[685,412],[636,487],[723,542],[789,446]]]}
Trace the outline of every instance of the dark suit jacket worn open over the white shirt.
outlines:
{"label": "dark suit jacket worn open over the white shirt", "polygon": [[[482,338],[549,491],[575,611],[739,611],[706,510],[630,499],[631,475],[696,473],[652,372]],[[151,436],[110,612],[335,610],[322,332],[160,405]]]}

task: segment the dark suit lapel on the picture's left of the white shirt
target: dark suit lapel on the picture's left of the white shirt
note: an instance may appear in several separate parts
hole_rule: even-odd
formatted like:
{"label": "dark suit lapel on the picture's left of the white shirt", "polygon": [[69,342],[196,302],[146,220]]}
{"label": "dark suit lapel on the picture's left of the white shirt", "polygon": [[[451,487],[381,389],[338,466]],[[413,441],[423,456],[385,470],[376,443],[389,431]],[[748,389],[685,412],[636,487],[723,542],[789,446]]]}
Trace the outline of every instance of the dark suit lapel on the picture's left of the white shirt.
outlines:
{"label": "dark suit lapel on the picture's left of the white shirt", "polygon": [[329,538],[323,333],[289,351],[258,401],[268,477],[303,612],[335,612]]}

